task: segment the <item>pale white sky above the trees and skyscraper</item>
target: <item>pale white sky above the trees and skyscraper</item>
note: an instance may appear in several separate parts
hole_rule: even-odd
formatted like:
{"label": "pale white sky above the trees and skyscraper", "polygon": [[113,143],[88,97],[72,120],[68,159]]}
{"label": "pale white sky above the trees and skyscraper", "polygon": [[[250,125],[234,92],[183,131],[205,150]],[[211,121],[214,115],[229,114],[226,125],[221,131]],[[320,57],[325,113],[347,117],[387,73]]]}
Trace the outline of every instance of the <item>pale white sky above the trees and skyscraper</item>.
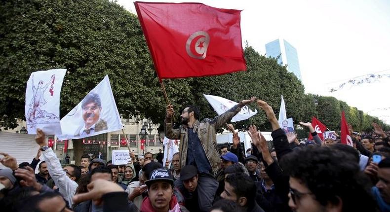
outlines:
{"label": "pale white sky above the trees and skyscraper", "polygon": [[[248,41],[262,55],[266,53],[265,44],[277,38],[292,44],[298,52],[306,93],[336,97],[390,124],[390,98],[386,95],[390,75],[372,83],[346,83],[342,89],[330,92],[331,88],[337,89],[350,79],[362,79],[367,74],[390,74],[389,0],[196,2],[241,9],[242,41]],[[135,13],[133,1],[117,0],[117,3]]]}

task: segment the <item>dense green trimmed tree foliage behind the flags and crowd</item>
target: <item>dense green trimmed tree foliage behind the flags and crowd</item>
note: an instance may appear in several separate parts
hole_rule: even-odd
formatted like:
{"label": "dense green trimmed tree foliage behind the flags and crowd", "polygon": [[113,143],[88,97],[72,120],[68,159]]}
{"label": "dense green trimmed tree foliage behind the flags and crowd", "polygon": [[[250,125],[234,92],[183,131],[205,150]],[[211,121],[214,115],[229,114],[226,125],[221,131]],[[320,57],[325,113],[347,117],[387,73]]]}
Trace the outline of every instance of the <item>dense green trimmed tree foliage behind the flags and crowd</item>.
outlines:
{"label": "dense green trimmed tree foliage behind the flags and crowd", "polygon": [[[144,35],[135,15],[110,0],[2,0],[0,1],[0,126],[16,127],[24,119],[26,82],[31,72],[67,69],[61,92],[64,116],[109,75],[119,113],[162,123],[163,98]],[[277,115],[280,96],[288,117],[311,121],[316,116],[332,130],[340,129],[340,113],[356,131],[370,130],[372,121],[384,123],[333,97],[305,94],[302,82],[275,58],[246,46],[247,71],[187,79],[164,80],[176,119],[185,106],[198,105],[201,117],[216,113],[203,94],[236,102],[256,96]],[[315,103],[318,103],[316,105]],[[252,104],[252,109],[257,106]],[[264,112],[234,123],[271,130]],[[389,129],[389,126],[385,126]]]}

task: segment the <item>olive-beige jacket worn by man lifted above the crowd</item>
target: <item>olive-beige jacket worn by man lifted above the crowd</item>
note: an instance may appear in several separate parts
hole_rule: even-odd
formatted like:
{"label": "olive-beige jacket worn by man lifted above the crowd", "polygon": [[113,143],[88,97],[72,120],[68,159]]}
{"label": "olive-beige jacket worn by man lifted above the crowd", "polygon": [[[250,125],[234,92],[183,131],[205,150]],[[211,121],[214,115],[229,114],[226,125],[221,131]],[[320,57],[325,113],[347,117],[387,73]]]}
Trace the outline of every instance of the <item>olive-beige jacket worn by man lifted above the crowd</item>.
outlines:
{"label": "olive-beige jacket worn by man lifted above the crowd", "polygon": [[[241,107],[244,106],[242,103],[237,104],[228,111],[222,113],[221,115],[208,119],[205,118],[201,122],[196,120],[194,124],[194,132],[197,133],[198,138],[202,144],[206,157],[213,169],[213,174],[221,168],[221,155],[218,152],[217,148],[217,138],[216,138],[216,129],[221,128],[226,122],[232,120],[233,116],[236,115]],[[168,139],[180,139],[180,166],[183,167],[186,165],[187,160],[187,148],[188,148],[188,136],[187,136],[187,126],[181,125],[179,129],[173,129],[171,120],[165,119],[165,136]]]}

